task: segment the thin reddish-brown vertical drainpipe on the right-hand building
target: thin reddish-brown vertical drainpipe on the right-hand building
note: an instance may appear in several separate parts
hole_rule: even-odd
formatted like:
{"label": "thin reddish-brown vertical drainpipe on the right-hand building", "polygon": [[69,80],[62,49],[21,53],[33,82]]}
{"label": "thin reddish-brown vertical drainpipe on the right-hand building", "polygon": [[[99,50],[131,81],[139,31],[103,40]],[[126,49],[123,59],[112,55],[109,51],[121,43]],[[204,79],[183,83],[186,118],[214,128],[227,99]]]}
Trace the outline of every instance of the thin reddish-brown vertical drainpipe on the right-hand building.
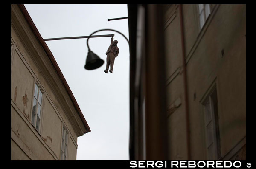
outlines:
{"label": "thin reddish-brown vertical drainpipe on the right-hand building", "polygon": [[179,4],[180,11],[180,31],[181,31],[181,48],[182,48],[182,61],[183,61],[183,80],[184,80],[184,97],[185,97],[185,110],[186,110],[186,142],[187,142],[187,153],[188,159],[191,159],[190,154],[190,131],[189,131],[189,104],[188,104],[188,90],[187,90],[187,79],[186,79],[186,59],[185,59],[185,43],[184,43],[184,29],[183,29],[183,13],[182,4]]}

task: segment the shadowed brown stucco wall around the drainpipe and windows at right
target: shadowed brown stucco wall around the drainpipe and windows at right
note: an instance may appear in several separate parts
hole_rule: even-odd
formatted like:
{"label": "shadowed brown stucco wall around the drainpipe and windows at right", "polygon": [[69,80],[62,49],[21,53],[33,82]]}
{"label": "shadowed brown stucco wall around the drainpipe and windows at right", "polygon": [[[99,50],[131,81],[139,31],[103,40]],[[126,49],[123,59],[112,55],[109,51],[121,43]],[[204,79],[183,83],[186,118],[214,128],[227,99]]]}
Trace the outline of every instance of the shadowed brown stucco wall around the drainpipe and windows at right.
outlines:
{"label": "shadowed brown stucco wall around the drainpipe and windows at right", "polygon": [[[200,30],[197,5],[183,5],[190,145],[191,157],[195,160],[207,159],[202,101],[213,85],[218,95],[222,158],[239,143],[243,146],[246,136],[245,5],[212,5],[211,8],[211,15]],[[186,151],[183,72],[177,69],[182,66],[180,14],[176,5],[166,11],[166,22],[168,16],[174,14],[176,17],[165,28],[167,101],[170,106],[180,97],[181,105],[168,118],[169,145],[172,147],[169,154],[170,159],[186,159],[183,152]]]}

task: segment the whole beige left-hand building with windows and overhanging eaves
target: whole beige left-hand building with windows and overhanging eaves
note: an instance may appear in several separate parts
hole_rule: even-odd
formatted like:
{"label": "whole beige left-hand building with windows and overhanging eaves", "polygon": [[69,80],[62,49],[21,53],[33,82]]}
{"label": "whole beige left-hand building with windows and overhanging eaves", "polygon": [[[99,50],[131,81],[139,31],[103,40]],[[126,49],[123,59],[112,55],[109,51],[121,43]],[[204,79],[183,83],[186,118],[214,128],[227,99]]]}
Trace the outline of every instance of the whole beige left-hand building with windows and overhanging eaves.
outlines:
{"label": "whole beige left-hand building with windows and overhanging eaves", "polygon": [[90,131],[26,8],[11,5],[11,159],[76,160]]}

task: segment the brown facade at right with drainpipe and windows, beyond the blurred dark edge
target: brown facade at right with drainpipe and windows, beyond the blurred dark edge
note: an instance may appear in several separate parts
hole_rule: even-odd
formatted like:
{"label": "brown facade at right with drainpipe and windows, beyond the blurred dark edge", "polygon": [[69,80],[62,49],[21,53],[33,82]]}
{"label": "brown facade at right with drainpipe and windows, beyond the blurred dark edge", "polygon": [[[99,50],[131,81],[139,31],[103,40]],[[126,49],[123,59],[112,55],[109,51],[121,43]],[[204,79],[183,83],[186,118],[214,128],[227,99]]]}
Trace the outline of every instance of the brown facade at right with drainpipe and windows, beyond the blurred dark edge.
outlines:
{"label": "brown facade at right with drainpipe and windows, beyond the blurred dark edge", "polygon": [[245,160],[246,6],[164,8],[169,159]]}

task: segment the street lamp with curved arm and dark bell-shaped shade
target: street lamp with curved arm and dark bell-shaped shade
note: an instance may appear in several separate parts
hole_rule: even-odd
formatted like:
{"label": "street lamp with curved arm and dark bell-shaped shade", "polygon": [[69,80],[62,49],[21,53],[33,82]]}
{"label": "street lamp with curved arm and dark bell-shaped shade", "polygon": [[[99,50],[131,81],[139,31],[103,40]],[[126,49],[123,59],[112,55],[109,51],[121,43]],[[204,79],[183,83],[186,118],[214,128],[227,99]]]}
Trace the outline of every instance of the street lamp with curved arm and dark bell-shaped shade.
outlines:
{"label": "street lamp with curved arm and dark bell-shaped shade", "polygon": [[[90,37],[93,34],[95,34],[96,32],[99,32],[99,31],[115,31],[115,32],[121,34],[123,37],[125,37],[124,34],[122,34],[119,31],[113,30],[113,29],[100,29],[100,30],[95,31],[92,34],[90,34],[88,39],[87,39],[88,54],[87,54],[86,62],[85,62],[85,65],[84,65],[84,68],[86,70],[97,69],[97,68],[101,67],[104,63],[104,60],[100,59],[100,57],[98,55],[94,54],[93,51],[90,50],[89,45],[88,45],[88,40],[90,39]],[[127,37],[125,37],[125,39],[127,40],[128,44],[129,44],[129,40],[127,39]]]}

